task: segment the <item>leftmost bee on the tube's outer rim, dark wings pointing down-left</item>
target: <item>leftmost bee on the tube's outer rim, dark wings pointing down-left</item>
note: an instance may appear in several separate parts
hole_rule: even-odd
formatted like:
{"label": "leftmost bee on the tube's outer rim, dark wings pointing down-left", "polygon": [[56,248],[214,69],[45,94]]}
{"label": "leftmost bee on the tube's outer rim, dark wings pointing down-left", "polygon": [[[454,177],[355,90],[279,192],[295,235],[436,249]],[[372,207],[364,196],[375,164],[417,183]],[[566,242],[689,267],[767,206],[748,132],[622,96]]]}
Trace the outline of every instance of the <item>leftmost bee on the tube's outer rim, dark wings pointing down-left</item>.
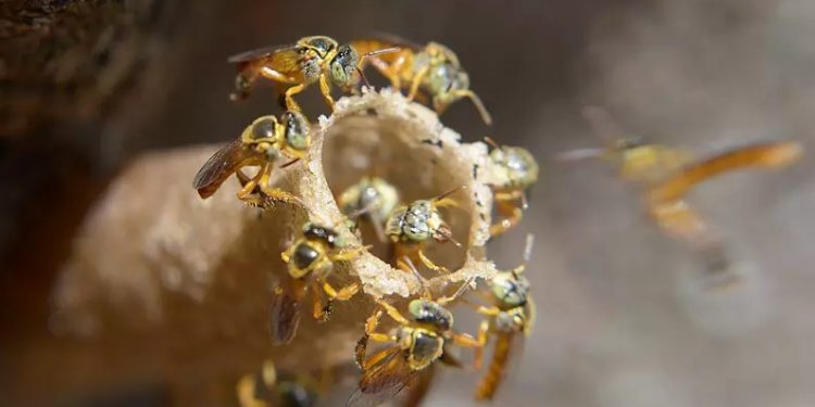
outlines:
{"label": "leftmost bee on the tube's outer rim, dark wings pointing down-left", "polygon": [[[250,205],[265,207],[274,202],[299,203],[289,192],[268,185],[275,163],[283,156],[292,158],[284,167],[305,158],[311,145],[309,122],[300,113],[285,112],[280,120],[275,116],[256,118],[241,136],[215,152],[199,169],[192,181],[198,194],[210,198],[229,176],[235,174],[243,187],[238,198]],[[254,177],[242,168],[256,166]]]}

